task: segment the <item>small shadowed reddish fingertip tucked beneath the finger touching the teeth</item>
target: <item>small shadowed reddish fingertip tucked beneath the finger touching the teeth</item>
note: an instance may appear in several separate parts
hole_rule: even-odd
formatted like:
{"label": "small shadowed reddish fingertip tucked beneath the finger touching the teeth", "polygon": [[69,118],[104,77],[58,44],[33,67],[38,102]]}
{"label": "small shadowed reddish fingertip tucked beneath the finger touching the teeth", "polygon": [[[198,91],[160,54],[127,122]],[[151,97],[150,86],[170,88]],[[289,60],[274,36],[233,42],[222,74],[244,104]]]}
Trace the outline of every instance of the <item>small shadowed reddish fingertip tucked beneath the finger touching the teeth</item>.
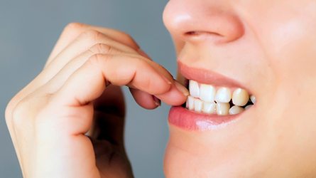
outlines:
{"label": "small shadowed reddish fingertip tucked beneath the finger touching the teeth", "polygon": [[160,100],[155,96],[135,88],[129,88],[129,90],[131,91],[136,103],[141,107],[152,110],[160,106]]}

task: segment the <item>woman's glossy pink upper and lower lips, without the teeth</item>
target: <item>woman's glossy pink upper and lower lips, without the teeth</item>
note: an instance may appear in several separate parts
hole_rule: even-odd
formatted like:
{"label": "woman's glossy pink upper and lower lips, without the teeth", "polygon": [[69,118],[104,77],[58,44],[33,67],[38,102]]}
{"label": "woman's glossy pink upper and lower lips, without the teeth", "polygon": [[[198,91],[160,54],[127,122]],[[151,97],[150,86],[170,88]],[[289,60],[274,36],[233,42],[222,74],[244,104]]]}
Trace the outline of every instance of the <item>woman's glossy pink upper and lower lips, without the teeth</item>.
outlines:
{"label": "woman's glossy pink upper and lower lips, without the teeth", "polygon": [[[196,80],[199,83],[226,86],[231,88],[244,88],[240,83],[214,73],[213,71],[191,68],[178,61],[179,72],[189,80]],[[242,112],[243,113],[243,112]],[[169,112],[168,121],[171,125],[175,125],[184,130],[212,130],[214,127],[224,125],[225,123],[236,120],[238,115],[205,115],[194,111],[187,110],[181,106],[172,107]]]}

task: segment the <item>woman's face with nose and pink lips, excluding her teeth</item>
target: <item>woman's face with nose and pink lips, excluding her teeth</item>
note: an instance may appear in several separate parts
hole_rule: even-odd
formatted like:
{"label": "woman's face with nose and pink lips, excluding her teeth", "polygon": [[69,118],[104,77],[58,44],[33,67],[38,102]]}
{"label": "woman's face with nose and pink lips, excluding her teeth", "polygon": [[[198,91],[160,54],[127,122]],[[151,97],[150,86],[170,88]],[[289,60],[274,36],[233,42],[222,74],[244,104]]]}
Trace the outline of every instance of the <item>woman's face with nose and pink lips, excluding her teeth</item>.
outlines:
{"label": "woman's face with nose and pink lips, excluding her teeth", "polygon": [[167,177],[316,174],[315,9],[315,0],[168,2],[180,80],[240,87],[256,103],[231,117],[173,108]]}

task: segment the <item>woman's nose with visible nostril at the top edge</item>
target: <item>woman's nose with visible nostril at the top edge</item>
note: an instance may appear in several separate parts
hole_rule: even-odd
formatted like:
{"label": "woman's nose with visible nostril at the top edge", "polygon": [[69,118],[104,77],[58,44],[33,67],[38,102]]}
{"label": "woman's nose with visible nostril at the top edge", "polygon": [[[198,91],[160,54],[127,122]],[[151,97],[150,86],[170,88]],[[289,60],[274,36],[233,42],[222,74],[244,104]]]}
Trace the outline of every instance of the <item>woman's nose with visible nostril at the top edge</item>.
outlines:
{"label": "woman's nose with visible nostril at the top edge", "polygon": [[229,43],[244,35],[244,26],[227,1],[170,0],[163,21],[173,38],[185,42]]}

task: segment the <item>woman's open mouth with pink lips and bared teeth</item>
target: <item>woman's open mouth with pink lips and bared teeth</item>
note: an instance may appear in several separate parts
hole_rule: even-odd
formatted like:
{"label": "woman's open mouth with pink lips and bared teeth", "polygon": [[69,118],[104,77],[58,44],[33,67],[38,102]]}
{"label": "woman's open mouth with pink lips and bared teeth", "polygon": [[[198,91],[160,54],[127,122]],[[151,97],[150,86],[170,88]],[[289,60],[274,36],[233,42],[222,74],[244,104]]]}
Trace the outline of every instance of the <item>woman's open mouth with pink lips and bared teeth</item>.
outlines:
{"label": "woman's open mouth with pink lips and bared teeth", "polygon": [[187,102],[170,109],[168,121],[185,130],[213,130],[239,119],[256,105],[256,96],[241,83],[209,70],[178,61]]}

